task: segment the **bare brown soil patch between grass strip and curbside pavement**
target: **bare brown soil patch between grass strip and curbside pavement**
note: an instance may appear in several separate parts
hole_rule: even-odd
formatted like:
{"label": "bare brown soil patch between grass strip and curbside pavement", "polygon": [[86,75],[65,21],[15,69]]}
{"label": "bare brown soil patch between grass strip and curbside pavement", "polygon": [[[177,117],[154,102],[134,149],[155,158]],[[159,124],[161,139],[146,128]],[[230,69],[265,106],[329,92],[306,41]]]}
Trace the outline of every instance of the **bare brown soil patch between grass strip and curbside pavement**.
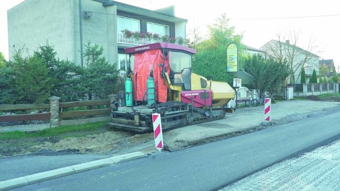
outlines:
{"label": "bare brown soil patch between grass strip and curbside pavement", "polygon": [[110,152],[114,154],[146,142],[153,134],[135,134],[102,127],[98,130],[68,132],[46,138],[0,140],[0,157],[27,154],[62,155]]}

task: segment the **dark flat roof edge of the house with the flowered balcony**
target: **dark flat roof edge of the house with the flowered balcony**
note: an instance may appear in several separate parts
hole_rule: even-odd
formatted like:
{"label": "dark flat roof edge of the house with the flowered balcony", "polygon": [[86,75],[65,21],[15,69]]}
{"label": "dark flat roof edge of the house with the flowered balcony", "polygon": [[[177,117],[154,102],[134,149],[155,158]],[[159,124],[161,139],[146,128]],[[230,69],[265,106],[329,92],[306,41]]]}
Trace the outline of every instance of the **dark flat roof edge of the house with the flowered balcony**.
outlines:
{"label": "dark flat roof edge of the house with the flowered balcony", "polygon": [[138,15],[143,15],[146,17],[159,18],[162,20],[170,21],[170,22],[187,22],[187,19],[185,18],[174,17],[172,15],[165,14],[167,12],[163,11],[163,9],[150,10],[150,9],[145,9],[145,8],[137,7],[134,5],[129,5],[129,4],[114,1],[114,0],[96,0],[96,1],[102,2],[103,6],[116,5],[117,10],[120,10],[120,11],[130,12],[130,13],[134,13]]}

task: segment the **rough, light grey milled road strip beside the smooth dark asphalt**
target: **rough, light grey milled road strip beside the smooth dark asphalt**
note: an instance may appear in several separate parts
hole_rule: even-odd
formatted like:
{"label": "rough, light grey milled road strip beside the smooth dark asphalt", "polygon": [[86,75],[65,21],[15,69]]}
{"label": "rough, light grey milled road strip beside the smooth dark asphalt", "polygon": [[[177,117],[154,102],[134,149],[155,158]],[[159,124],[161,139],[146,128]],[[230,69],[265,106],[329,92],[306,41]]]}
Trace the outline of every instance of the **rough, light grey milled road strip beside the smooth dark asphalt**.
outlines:
{"label": "rough, light grey milled road strip beside the smooth dark asphalt", "polygon": [[221,191],[340,191],[340,141],[276,163]]}

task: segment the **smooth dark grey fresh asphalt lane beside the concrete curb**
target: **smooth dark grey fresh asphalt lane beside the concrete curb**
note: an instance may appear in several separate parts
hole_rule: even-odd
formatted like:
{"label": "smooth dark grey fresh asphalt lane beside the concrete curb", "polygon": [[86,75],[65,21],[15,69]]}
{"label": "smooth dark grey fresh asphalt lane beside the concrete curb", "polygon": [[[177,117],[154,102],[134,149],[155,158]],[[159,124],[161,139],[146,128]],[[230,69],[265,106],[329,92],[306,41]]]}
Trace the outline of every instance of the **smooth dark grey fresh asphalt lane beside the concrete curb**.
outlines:
{"label": "smooth dark grey fresh asphalt lane beside the concrete curb", "polygon": [[17,191],[209,191],[340,138],[340,111]]}

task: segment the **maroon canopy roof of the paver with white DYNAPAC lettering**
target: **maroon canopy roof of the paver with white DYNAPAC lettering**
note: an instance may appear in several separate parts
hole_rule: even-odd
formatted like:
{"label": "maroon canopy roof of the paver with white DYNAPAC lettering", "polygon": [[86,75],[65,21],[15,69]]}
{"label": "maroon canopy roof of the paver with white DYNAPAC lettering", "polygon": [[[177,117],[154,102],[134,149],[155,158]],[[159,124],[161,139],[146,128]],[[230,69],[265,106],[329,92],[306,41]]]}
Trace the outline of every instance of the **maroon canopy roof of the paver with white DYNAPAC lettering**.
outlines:
{"label": "maroon canopy roof of the paver with white DYNAPAC lettering", "polygon": [[172,44],[172,43],[153,43],[153,44],[147,44],[143,46],[137,46],[137,47],[131,47],[131,48],[125,48],[125,53],[136,53],[136,52],[144,52],[149,50],[155,50],[155,49],[168,49],[172,51],[181,51],[181,52],[187,52],[189,54],[195,54],[196,50],[190,49],[188,47],[178,45],[178,44]]}

